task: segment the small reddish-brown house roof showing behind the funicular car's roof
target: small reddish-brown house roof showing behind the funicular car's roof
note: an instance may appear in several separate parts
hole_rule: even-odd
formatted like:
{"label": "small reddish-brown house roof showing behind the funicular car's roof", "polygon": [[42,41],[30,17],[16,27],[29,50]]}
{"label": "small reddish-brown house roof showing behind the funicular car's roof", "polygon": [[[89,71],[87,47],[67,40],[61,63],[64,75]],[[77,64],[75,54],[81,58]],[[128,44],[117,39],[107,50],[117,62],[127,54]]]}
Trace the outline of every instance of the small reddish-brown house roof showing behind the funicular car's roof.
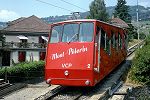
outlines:
{"label": "small reddish-brown house roof showing behind the funicular car's roof", "polygon": [[111,24],[114,24],[116,26],[122,27],[122,28],[129,28],[128,24],[121,20],[120,18],[113,18],[111,19]]}

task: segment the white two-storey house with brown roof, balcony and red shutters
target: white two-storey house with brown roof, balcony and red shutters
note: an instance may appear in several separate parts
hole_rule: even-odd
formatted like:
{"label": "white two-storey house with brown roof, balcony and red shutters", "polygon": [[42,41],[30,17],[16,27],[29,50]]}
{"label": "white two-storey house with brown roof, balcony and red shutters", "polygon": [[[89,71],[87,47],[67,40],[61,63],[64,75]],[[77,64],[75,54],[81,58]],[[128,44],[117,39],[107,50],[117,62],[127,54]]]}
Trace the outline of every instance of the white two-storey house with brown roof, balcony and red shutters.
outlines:
{"label": "white two-storey house with brown roof, balcony and red shutters", "polygon": [[5,44],[2,46],[2,66],[23,61],[44,60],[48,33],[48,24],[34,15],[8,23],[1,32],[5,36]]}

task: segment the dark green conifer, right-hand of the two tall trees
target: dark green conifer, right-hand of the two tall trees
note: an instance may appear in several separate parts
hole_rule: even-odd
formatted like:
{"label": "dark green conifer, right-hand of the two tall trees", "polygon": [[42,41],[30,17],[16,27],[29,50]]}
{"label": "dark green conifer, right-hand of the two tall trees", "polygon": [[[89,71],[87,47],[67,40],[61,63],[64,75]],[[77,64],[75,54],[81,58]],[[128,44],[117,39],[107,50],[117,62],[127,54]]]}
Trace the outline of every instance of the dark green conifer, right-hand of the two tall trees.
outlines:
{"label": "dark green conifer, right-hand of the two tall trees", "polygon": [[114,17],[118,17],[126,23],[131,23],[131,15],[129,14],[129,6],[126,5],[126,0],[118,0],[115,8]]}

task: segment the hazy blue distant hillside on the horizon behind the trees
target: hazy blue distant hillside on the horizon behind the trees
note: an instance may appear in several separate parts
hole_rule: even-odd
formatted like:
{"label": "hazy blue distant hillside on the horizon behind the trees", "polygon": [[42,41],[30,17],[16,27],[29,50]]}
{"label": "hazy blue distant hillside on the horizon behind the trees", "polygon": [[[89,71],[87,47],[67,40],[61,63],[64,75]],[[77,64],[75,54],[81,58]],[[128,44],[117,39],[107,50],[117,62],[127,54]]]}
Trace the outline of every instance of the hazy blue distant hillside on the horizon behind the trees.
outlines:
{"label": "hazy blue distant hillside on the horizon behind the trees", "polygon": [[[107,9],[107,12],[109,13],[109,15],[112,16],[115,6],[110,6],[110,7],[107,7],[106,9]],[[130,9],[129,13],[132,16],[132,20],[136,21],[137,6],[130,6],[129,9]],[[81,12],[80,13],[81,18],[86,18],[88,15],[89,15],[89,12]],[[70,16],[71,15],[49,16],[49,17],[45,17],[42,19],[48,23],[53,23],[53,22],[70,19]],[[145,20],[149,20],[149,19],[150,19],[150,7],[145,8],[144,6],[139,6],[139,20],[145,21]]]}

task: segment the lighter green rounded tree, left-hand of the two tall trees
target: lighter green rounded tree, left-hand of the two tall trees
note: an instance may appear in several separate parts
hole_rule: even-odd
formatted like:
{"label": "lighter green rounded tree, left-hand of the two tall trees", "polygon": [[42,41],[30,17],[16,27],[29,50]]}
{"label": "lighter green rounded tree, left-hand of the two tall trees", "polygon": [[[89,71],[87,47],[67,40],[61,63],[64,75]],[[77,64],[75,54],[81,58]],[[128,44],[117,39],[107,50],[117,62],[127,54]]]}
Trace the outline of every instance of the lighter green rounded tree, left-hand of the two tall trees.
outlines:
{"label": "lighter green rounded tree, left-hand of the two tall trees", "polygon": [[108,13],[106,12],[106,7],[104,0],[94,0],[90,4],[90,15],[88,18],[97,19],[101,21],[108,21]]}

